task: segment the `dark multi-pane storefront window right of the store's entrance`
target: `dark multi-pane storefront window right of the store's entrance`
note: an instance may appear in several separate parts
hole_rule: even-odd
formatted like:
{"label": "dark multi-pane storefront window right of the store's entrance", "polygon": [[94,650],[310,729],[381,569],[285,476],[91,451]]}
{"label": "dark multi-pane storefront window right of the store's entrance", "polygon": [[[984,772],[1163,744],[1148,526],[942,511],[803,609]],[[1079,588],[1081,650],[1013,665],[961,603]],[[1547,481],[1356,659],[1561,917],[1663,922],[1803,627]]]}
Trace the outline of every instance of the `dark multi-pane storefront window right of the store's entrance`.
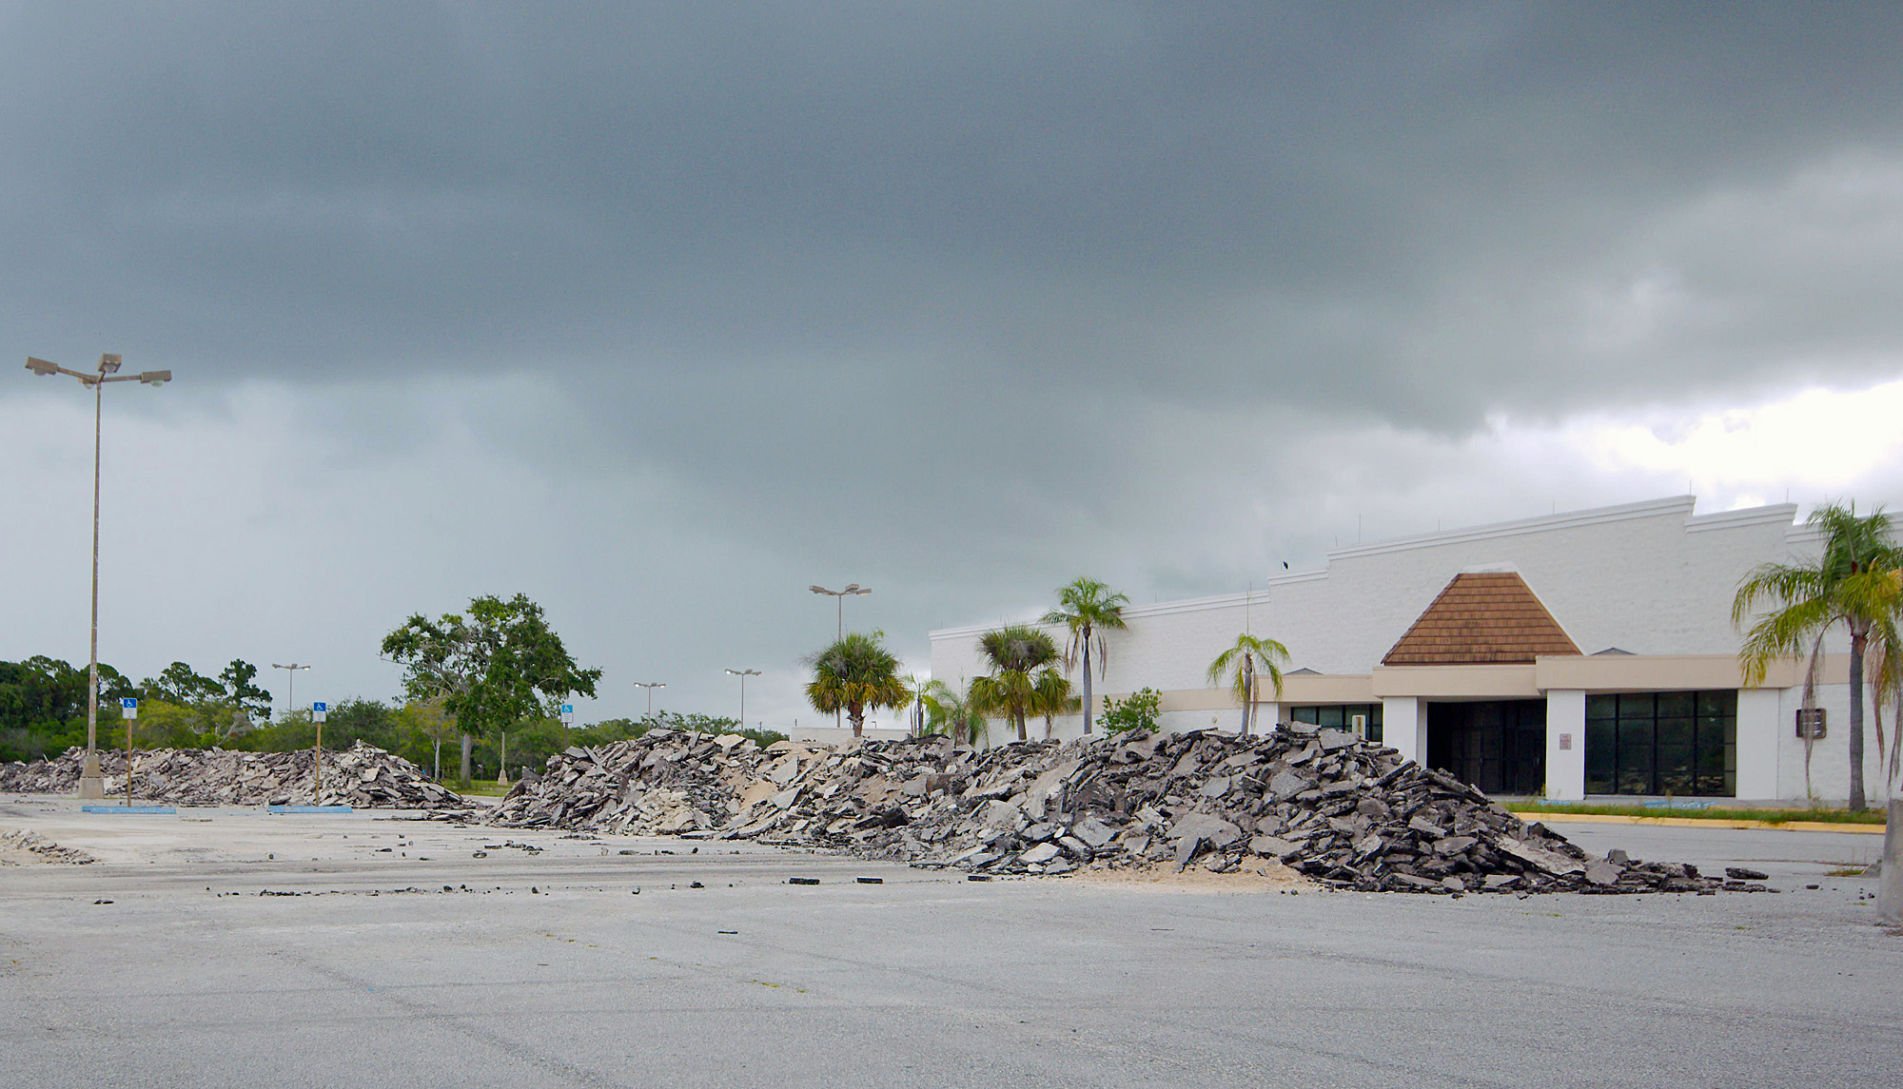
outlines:
{"label": "dark multi-pane storefront window right of the store's entrance", "polygon": [[1585,699],[1587,794],[1737,794],[1737,691]]}

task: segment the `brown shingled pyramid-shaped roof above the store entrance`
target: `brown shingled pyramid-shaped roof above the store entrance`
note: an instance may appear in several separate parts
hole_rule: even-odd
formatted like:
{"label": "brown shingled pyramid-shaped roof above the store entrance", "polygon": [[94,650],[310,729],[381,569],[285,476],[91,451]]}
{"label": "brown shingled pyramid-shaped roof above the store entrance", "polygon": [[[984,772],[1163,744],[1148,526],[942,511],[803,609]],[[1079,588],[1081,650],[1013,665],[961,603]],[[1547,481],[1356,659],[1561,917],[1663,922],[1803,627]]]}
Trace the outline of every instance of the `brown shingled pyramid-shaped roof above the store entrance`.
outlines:
{"label": "brown shingled pyramid-shaped roof above the store entrance", "polygon": [[1519,573],[1469,571],[1454,575],[1382,664],[1530,664],[1538,655],[1578,653]]}

